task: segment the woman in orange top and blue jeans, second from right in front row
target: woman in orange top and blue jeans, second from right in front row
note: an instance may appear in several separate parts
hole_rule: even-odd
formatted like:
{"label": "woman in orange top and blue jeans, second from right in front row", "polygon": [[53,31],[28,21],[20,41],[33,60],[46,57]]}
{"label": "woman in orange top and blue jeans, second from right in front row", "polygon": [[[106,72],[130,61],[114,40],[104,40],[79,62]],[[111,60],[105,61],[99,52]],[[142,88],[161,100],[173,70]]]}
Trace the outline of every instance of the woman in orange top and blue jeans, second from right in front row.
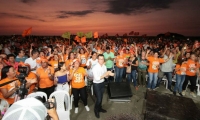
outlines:
{"label": "woman in orange top and blue jeans, second from right in front row", "polygon": [[187,64],[184,59],[178,59],[175,72],[176,72],[176,84],[174,87],[173,94],[176,95],[176,91],[178,91],[180,96],[182,95],[182,86],[183,82],[185,81],[185,74],[186,74],[186,67]]}

